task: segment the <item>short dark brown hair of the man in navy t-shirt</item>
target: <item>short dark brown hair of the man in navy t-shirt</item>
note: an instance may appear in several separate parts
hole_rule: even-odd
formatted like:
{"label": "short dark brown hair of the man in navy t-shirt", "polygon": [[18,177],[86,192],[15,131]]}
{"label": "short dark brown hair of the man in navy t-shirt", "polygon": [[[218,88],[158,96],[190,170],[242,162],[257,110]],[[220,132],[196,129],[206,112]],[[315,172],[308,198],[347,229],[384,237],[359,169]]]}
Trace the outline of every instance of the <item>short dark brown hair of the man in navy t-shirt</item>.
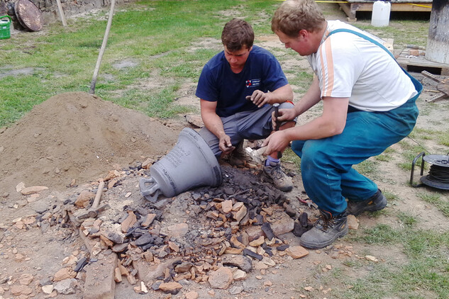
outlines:
{"label": "short dark brown hair of the man in navy t-shirt", "polygon": [[243,47],[250,49],[254,43],[253,28],[246,21],[233,18],[224,26],[221,42],[231,52],[241,50]]}

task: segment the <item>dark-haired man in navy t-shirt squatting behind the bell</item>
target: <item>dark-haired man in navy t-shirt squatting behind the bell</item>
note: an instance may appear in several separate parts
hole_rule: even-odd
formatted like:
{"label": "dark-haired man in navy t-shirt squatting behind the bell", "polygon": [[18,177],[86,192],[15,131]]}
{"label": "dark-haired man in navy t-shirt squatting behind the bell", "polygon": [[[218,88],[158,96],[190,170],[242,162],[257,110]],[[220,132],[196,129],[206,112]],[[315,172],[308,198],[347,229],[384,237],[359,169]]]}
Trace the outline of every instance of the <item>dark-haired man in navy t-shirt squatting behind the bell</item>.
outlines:
{"label": "dark-haired man in navy t-shirt squatting behind the bell", "polygon": [[[268,137],[273,132],[273,104],[293,107],[292,87],[279,62],[253,45],[253,28],[247,22],[234,18],[226,23],[221,41],[224,50],[206,63],[196,89],[205,125],[199,134],[217,158],[231,153],[244,139]],[[295,123],[282,123],[279,130]],[[264,172],[280,190],[292,190],[292,179],[282,171],[278,152],[267,157]]]}

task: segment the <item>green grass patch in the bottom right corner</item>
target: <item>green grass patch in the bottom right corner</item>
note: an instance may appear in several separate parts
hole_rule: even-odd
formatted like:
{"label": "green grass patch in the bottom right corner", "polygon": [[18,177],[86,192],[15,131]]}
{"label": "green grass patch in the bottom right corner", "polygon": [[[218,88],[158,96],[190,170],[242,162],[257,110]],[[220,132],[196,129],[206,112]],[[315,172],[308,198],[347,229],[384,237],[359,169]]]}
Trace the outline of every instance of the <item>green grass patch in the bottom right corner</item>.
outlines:
{"label": "green grass patch in the bottom right corner", "polygon": [[[381,247],[401,244],[406,260],[401,264],[370,264],[372,271],[366,277],[354,281],[344,278],[353,288],[336,293],[343,298],[448,298],[449,232],[416,230],[414,217],[400,213],[398,218],[404,223],[404,229],[379,224],[357,232],[353,239]],[[382,252],[372,252],[372,255],[379,257]]]}

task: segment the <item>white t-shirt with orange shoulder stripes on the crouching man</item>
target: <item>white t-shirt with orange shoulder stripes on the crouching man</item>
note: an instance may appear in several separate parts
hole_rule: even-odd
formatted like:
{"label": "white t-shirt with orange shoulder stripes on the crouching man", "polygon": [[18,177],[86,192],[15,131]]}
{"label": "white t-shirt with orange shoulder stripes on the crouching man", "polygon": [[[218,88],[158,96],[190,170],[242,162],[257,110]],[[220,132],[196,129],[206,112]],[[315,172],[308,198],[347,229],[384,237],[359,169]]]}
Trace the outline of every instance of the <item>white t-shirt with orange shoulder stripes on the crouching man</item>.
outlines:
{"label": "white t-shirt with orange shoulder stripes on the crouching man", "polygon": [[349,98],[350,106],[362,111],[389,111],[401,106],[417,91],[411,79],[381,47],[348,28],[383,43],[374,35],[341,21],[328,21],[318,51],[307,60],[319,79],[321,98]]}

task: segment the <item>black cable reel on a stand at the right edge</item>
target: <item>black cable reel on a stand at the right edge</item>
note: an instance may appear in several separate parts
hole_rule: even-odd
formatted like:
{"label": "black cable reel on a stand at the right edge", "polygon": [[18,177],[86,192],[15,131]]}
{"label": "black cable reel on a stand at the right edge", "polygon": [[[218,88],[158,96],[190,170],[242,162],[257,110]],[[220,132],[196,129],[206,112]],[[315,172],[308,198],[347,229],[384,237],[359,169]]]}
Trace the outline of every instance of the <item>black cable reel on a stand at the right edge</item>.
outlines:
{"label": "black cable reel on a stand at the right edge", "polygon": [[[421,157],[421,184],[414,184],[414,169],[416,161]],[[424,162],[431,164],[428,175],[423,176]],[[428,154],[421,152],[415,157],[411,163],[410,185],[412,187],[431,186],[433,188],[449,190],[449,153]]]}

